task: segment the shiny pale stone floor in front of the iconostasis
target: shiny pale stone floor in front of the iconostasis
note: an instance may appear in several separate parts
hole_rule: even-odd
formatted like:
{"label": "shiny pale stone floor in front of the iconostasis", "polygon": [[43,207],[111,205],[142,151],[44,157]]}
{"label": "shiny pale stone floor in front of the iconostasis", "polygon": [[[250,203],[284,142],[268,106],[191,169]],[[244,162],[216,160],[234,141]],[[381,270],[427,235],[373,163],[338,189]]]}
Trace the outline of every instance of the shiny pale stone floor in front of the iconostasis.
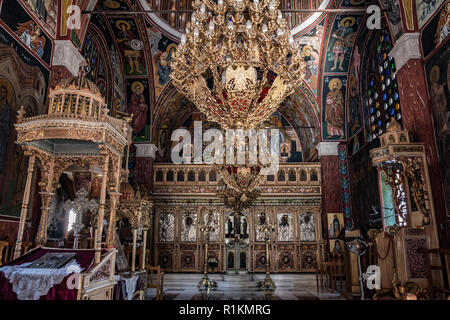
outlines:
{"label": "shiny pale stone floor in front of the iconostasis", "polygon": [[[318,289],[315,274],[274,274],[273,292],[258,288],[264,276],[213,274],[209,279],[217,287],[205,292],[197,288],[202,274],[165,274],[163,295],[165,300],[346,300],[337,291]],[[147,289],[146,297],[154,299],[155,290]]]}

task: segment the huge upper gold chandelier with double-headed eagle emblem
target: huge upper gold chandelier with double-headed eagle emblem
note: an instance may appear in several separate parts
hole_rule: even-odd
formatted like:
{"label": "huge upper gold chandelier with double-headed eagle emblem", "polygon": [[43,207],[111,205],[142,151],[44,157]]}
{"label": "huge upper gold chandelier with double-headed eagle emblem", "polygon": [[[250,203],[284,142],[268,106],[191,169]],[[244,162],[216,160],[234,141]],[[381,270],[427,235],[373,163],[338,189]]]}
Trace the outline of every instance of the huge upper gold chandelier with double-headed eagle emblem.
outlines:
{"label": "huge upper gold chandelier with double-headed eagle emblem", "polygon": [[[174,85],[223,129],[255,128],[300,85],[306,64],[279,0],[195,0],[171,63]],[[269,79],[274,79],[270,81]]]}

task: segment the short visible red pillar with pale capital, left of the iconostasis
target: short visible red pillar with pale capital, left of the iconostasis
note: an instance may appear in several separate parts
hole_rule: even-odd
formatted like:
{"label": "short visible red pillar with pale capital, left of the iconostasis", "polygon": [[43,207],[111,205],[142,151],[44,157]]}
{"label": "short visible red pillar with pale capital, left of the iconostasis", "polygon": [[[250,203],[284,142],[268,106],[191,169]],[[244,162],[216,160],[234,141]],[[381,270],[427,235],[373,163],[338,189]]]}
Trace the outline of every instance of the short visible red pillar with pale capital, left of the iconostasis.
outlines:
{"label": "short visible red pillar with pale capital, left of the iconostasis", "polygon": [[145,185],[149,190],[153,187],[153,160],[158,149],[154,144],[135,143],[136,146],[136,182]]}

